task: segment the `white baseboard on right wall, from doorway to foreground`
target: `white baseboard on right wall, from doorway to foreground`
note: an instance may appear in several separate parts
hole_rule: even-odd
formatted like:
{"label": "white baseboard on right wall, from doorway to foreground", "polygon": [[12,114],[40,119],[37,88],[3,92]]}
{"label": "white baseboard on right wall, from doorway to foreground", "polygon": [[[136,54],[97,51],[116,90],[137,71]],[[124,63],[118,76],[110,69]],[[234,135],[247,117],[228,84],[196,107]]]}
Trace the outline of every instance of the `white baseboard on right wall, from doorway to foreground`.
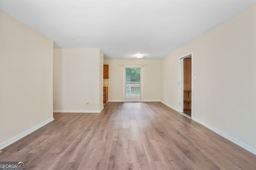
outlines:
{"label": "white baseboard on right wall, from doorway to foreground", "polygon": [[229,141],[235,143],[236,145],[238,145],[238,146],[240,146],[240,147],[242,147],[242,148],[244,148],[244,149],[248,150],[249,152],[252,152],[253,154],[256,155],[256,148],[254,148],[254,147],[252,147],[252,146],[250,146],[250,145],[248,145],[248,144],[246,144],[246,143],[244,143],[244,142],[242,142],[242,141],[240,141],[240,140],[238,140],[238,139],[228,135],[225,132],[220,131],[219,129],[216,129],[215,127],[212,127],[211,125],[209,125],[209,124],[207,124],[207,123],[205,123],[205,122],[203,122],[203,121],[201,121],[201,120],[199,120],[199,119],[197,119],[195,117],[192,117],[192,120],[200,123],[201,125],[204,125],[205,127],[207,127],[208,129],[214,131],[218,135],[228,139]]}

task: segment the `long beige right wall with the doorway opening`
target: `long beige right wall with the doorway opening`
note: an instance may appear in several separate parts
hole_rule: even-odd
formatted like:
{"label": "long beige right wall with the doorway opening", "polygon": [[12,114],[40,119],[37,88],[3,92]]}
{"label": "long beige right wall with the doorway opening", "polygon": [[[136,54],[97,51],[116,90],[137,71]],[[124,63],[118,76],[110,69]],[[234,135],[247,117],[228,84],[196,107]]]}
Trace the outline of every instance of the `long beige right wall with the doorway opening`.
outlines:
{"label": "long beige right wall with the doorway opening", "polygon": [[192,118],[256,153],[256,6],[162,59],[162,101],[176,109],[178,59],[191,51],[197,76]]}

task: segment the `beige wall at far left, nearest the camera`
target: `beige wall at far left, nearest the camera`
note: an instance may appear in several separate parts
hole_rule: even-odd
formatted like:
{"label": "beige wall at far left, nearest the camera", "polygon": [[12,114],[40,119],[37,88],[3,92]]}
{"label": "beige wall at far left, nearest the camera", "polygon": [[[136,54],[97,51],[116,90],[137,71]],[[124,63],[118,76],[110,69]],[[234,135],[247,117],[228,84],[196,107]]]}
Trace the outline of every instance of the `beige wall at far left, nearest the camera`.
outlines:
{"label": "beige wall at far left, nearest the camera", "polygon": [[52,51],[52,40],[0,10],[0,145],[53,120]]}

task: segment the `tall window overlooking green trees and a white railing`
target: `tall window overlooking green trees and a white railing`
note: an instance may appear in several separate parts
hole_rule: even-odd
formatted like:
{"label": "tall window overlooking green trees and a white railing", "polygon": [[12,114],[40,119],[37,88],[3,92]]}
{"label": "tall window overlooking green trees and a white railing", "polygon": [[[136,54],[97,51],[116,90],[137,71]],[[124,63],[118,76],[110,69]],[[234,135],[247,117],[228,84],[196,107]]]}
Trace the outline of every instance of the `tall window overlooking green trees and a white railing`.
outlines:
{"label": "tall window overlooking green trees and a white railing", "polygon": [[124,99],[142,99],[142,66],[124,66]]}

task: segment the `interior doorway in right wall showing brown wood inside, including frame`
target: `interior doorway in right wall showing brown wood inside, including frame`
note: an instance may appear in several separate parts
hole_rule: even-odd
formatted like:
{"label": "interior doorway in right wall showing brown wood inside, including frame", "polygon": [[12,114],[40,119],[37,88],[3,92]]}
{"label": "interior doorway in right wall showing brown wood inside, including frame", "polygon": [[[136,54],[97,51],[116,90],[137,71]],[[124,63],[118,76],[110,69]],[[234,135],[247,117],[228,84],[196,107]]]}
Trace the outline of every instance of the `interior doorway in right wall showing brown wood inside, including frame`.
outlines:
{"label": "interior doorway in right wall showing brown wood inside, including frame", "polygon": [[179,59],[180,63],[180,102],[179,112],[186,117],[192,116],[192,53]]}

